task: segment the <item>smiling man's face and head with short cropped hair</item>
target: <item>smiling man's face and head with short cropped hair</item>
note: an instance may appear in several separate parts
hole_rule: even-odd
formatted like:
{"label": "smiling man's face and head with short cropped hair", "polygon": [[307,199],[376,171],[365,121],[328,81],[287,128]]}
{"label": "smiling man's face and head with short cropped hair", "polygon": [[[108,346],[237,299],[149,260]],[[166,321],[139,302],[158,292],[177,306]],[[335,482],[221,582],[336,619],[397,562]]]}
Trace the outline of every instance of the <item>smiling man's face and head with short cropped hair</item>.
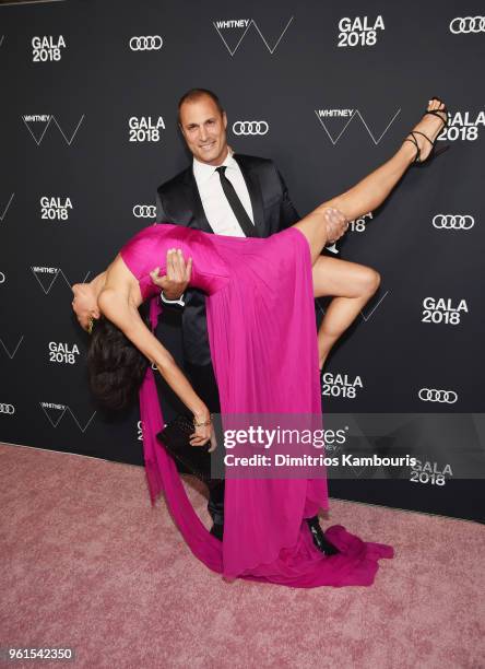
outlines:
{"label": "smiling man's face and head with short cropped hair", "polygon": [[203,95],[180,107],[180,128],[192,155],[201,163],[221,165],[227,155],[226,113]]}

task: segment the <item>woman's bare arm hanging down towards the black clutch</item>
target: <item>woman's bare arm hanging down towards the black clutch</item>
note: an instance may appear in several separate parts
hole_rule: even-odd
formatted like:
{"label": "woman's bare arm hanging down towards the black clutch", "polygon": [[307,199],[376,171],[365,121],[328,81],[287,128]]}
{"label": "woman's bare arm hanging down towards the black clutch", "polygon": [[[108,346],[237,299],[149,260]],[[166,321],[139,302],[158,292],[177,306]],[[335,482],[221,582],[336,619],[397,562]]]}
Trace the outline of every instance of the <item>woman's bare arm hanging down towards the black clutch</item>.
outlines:
{"label": "woman's bare arm hanging down towards the black clutch", "polygon": [[[209,409],[193,390],[167,349],[161,344],[143,322],[138,308],[130,304],[128,295],[108,287],[99,294],[97,302],[106,318],[109,318],[151,363],[155,363],[158,372],[174,392],[193,413],[196,421],[198,423],[209,421],[211,416]],[[211,426],[194,427],[194,433],[197,438],[191,443],[200,445],[211,436]]]}

